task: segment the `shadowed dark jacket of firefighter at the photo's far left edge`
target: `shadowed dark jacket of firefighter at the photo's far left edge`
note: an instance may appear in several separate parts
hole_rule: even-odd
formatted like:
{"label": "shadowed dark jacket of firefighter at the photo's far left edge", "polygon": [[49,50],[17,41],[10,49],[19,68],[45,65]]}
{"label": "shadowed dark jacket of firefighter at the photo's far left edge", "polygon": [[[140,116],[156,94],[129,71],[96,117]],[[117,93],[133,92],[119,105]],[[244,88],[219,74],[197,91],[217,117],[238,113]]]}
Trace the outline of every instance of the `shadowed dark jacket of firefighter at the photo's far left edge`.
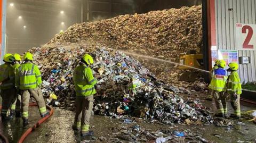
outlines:
{"label": "shadowed dark jacket of firefighter at the photo's far left edge", "polygon": [[15,88],[15,73],[14,68],[9,63],[0,65],[0,81],[10,78],[9,80],[2,83],[0,89],[12,89]]}

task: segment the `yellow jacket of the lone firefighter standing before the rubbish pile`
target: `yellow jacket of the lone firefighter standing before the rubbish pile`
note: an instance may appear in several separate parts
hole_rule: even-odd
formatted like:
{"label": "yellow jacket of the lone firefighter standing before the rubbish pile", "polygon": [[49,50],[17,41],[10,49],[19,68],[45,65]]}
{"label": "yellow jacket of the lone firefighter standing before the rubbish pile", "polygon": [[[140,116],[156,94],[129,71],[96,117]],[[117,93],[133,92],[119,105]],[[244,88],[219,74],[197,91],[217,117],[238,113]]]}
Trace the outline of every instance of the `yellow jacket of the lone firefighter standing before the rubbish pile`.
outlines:
{"label": "yellow jacket of the lone firefighter standing before the rubbish pile", "polygon": [[91,68],[85,64],[78,65],[74,70],[76,96],[90,96],[96,93],[94,85],[97,80],[93,77]]}

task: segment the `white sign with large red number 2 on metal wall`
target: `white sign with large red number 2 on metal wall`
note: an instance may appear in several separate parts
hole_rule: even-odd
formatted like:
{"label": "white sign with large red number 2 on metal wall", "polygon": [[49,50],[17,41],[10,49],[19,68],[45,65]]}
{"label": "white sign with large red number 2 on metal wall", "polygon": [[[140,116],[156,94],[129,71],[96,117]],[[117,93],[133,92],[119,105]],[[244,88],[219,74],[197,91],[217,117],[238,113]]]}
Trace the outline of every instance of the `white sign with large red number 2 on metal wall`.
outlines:
{"label": "white sign with large red number 2 on metal wall", "polygon": [[236,23],[236,48],[256,51],[256,24]]}

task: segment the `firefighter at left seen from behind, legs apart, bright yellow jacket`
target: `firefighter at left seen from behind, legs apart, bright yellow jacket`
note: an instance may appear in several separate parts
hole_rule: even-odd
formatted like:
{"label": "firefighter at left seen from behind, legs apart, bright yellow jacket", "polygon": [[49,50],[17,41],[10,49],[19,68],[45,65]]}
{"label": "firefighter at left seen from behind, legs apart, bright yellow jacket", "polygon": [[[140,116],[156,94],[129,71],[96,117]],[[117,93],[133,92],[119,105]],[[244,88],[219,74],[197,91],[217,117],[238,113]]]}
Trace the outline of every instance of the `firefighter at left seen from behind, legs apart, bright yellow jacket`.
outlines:
{"label": "firefighter at left seen from behind, legs apart, bright yellow jacket", "polygon": [[29,98],[35,98],[41,117],[49,115],[46,110],[44,98],[41,89],[38,87],[42,84],[41,72],[37,65],[33,64],[33,55],[29,52],[23,56],[24,62],[19,66],[16,75],[16,86],[21,93],[21,113],[23,125],[28,124],[28,104]]}

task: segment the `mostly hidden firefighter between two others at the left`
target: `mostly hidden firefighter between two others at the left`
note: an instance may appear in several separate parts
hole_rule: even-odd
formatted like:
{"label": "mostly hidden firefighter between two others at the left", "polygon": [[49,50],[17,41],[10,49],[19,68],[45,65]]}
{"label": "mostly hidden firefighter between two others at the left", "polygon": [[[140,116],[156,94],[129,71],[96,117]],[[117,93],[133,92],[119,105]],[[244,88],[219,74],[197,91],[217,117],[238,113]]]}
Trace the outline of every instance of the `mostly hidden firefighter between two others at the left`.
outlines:
{"label": "mostly hidden firefighter between two others at the left", "polygon": [[[20,67],[21,56],[19,54],[15,53],[14,58],[15,58],[15,60],[14,60],[14,64],[12,65],[12,67],[16,71]],[[19,94],[19,90],[16,89],[15,98],[14,98],[14,100],[12,102],[12,106],[11,106],[10,116],[12,117],[15,113],[15,117],[21,117],[20,108],[21,108],[21,95]]]}

